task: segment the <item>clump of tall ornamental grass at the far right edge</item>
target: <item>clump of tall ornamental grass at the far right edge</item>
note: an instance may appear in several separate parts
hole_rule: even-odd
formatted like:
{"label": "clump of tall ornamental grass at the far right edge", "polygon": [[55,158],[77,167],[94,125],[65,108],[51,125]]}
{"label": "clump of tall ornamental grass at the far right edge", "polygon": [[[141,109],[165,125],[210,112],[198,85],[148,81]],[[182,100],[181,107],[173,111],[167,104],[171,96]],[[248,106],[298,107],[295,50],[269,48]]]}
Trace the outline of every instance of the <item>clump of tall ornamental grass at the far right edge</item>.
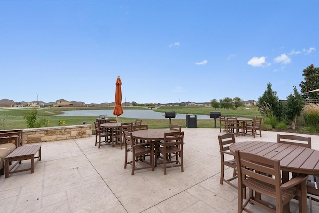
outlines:
{"label": "clump of tall ornamental grass at the far right edge", "polygon": [[307,104],[303,109],[303,115],[310,132],[319,131],[319,104]]}

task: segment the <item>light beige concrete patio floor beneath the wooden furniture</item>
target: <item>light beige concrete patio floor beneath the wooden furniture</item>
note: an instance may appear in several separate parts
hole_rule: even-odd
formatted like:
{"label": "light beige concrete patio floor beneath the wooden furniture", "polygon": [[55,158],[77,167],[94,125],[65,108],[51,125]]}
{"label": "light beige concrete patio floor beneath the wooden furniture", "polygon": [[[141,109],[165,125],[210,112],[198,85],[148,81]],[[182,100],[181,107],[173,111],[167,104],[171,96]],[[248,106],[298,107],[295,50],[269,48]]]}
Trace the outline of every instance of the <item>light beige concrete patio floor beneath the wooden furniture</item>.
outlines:
{"label": "light beige concrete patio floor beneath the wooden furniture", "polygon": [[[184,172],[179,167],[124,169],[124,149],[94,146],[89,138],[43,142],[42,160],[30,171],[0,176],[1,213],[226,213],[237,212],[237,191],[220,185],[219,129],[184,128]],[[262,137],[238,136],[241,141],[277,141],[278,132]],[[286,134],[286,133],[282,133]],[[287,133],[289,134],[289,133]],[[312,147],[319,150],[319,136]],[[28,144],[23,145],[28,146]],[[28,166],[22,161],[19,168]],[[231,176],[232,170],[226,170]],[[234,183],[237,179],[234,180]],[[291,212],[298,212],[293,200]],[[252,207],[256,212],[264,212]],[[308,205],[308,212],[310,212]],[[313,202],[313,212],[319,204]]]}

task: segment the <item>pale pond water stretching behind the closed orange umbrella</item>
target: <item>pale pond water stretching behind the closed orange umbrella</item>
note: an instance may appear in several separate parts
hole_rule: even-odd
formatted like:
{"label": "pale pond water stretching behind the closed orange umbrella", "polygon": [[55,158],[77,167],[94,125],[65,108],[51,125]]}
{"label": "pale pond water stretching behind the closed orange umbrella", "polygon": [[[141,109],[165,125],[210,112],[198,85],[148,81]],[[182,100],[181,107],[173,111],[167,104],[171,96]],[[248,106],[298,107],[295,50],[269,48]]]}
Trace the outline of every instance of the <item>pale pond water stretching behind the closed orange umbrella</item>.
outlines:
{"label": "pale pond water stretching behind the closed orange umbrella", "polygon": [[[105,115],[107,117],[115,117],[113,115],[113,110],[70,110],[70,111],[63,111],[63,114],[59,114],[56,116],[97,116]],[[153,110],[133,110],[133,109],[126,109],[123,110],[123,114],[120,117],[125,118],[149,118],[149,119],[164,119],[165,113],[164,112],[154,112]],[[176,118],[172,119],[186,119],[186,114],[177,114]],[[210,119],[210,115],[197,115],[197,119]]]}

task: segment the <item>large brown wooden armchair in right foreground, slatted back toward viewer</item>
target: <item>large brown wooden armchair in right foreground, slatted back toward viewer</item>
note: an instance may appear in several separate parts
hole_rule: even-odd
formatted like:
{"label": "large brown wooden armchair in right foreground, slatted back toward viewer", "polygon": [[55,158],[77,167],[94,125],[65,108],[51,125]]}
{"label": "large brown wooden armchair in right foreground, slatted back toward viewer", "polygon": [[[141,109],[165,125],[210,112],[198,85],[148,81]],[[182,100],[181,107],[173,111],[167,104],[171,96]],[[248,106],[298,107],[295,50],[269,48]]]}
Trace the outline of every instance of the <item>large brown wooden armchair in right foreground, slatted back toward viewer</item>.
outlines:
{"label": "large brown wooden armchair in right foreground, slatted back toward viewer", "polygon": [[[252,212],[247,204],[255,204],[269,212],[282,213],[284,206],[299,195],[300,210],[307,211],[306,174],[299,174],[286,183],[281,182],[280,161],[252,153],[235,151],[238,171],[238,213]],[[270,176],[264,175],[269,174]],[[249,198],[243,203],[242,189],[249,188]],[[299,190],[299,188],[301,190]],[[275,200],[268,202],[254,197],[253,191]],[[299,193],[301,191],[301,193]],[[301,195],[300,195],[301,194]]]}

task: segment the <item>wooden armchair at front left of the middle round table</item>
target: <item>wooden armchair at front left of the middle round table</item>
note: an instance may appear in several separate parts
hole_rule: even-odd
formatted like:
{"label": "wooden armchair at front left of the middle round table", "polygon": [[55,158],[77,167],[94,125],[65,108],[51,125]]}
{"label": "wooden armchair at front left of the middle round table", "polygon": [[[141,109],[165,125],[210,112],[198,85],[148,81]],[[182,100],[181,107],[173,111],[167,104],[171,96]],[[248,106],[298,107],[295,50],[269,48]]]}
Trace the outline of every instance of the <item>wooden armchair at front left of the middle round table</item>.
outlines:
{"label": "wooden armchair at front left of the middle round table", "polygon": [[[124,130],[124,144],[125,144],[125,162],[124,169],[130,164],[132,166],[131,175],[134,175],[135,170],[142,170],[151,168],[154,171],[154,148],[151,142],[136,143],[133,139],[132,133]],[[148,146],[146,146],[148,145]],[[132,153],[131,161],[128,161],[128,153]],[[145,156],[149,156],[149,161],[146,161]]]}

